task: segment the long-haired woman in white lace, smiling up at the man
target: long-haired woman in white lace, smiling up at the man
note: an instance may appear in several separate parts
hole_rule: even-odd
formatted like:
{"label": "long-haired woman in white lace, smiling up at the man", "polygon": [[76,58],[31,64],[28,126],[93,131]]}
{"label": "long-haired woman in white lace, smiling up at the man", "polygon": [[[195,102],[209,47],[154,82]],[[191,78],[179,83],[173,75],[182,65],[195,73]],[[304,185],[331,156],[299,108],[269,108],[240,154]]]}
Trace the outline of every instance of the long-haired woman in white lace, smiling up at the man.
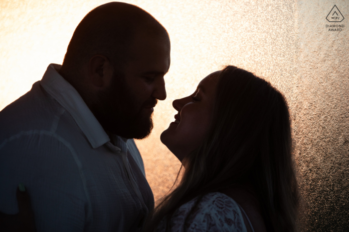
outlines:
{"label": "long-haired woman in white lace, smiling up at the man", "polygon": [[176,120],[161,141],[185,171],[146,231],[295,231],[298,191],[284,96],[227,66],[173,106]]}

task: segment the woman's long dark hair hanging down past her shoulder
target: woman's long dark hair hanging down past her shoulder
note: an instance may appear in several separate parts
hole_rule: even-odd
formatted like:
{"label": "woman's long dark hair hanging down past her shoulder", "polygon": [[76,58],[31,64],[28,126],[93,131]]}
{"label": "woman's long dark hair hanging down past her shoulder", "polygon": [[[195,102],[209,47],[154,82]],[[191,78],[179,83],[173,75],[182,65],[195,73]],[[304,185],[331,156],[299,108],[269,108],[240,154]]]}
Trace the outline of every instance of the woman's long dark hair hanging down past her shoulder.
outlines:
{"label": "woman's long dark hair hanging down past her shoulder", "polygon": [[178,186],[150,214],[146,231],[164,217],[169,229],[174,211],[197,196],[246,183],[253,186],[267,231],[296,230],[290,114],[285,97],[269,82],[235,66],[224,68],[209,133],[185,162]]}

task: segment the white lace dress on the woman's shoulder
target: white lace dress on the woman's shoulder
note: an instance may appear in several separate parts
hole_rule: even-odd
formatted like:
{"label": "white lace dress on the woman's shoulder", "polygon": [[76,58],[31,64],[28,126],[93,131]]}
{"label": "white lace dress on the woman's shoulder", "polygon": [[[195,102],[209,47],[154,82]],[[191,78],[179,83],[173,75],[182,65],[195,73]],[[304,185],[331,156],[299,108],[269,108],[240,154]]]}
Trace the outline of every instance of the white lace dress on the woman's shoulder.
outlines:
{"label": "white lace dress on the woman's shoulder", "polygon": [[[184,220],[197,198],[180,206],[171,219],[171,232],[184,232]],[[243,209],[232,198],[219,192],[209,193],[202,197],[200,203],[191,213],[185,225],[187,232],[247,232],[242,214]],[[253,231],[252,225],[245,214]],[[164,218],[157,232],[165,232]]]}

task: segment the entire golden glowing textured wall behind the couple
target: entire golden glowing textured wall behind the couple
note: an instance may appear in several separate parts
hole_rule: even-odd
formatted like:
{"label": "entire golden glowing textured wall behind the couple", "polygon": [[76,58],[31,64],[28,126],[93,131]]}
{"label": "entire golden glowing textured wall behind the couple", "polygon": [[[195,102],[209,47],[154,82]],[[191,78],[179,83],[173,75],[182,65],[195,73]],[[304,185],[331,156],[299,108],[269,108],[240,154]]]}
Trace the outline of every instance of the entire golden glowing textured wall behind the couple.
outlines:
{"label": "entire golden glowing textured wall behind the couple", "polygon": [[[0,1],[0,109],[41,79],[49,63],[62,63],[77,24],[105,2]],[[172,101],[231,64],[271,81],[289,101],[305,212],[302,230],[348,227],[349,1],[126,2],[153,14],[171,37],[168,98],[155,108],[150,138],[136,141],[155,198],[169,191],[180,167],[160,142],[161,132],[174,120]],[[335,4],[345,17],[341,23],[326,20]],[[345,27],[330,32],[326,24]]]}

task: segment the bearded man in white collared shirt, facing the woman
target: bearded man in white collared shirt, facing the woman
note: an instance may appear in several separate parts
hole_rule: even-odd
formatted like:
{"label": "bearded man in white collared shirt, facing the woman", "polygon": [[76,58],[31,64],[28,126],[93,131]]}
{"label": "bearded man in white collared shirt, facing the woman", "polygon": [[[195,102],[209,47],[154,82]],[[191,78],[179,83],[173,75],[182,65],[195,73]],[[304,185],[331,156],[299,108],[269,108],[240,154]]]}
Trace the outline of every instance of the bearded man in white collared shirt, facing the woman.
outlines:
{"label": "bearded man in white collared shirt, facing the woman", "polygon": [[166,29],[110,2],[77,26],[62,66],[0,112],[0,212],[30,195],[41,231],[140,231],[154,197],[133,139],[149,136],[166,99]]}

